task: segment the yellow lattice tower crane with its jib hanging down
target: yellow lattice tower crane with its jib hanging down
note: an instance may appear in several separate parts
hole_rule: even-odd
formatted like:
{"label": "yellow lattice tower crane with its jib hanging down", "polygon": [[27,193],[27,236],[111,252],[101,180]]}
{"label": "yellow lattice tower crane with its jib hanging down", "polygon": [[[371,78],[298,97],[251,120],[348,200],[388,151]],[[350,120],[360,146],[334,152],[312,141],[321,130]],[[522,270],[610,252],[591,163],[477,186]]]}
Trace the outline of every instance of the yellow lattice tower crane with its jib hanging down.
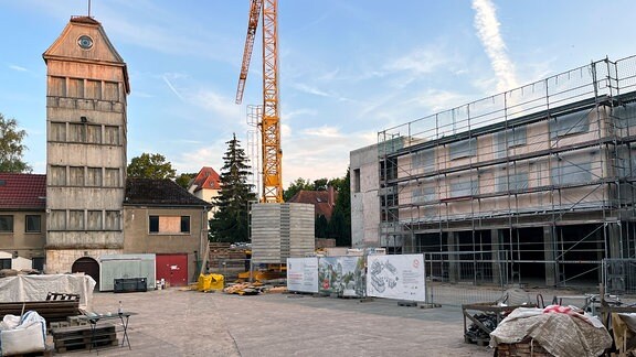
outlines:
{"label": "yellow lattice tower crane with its jib hanging down", "polygon": [[243,100],[252,48],[263,17],[263,118],[261,148],[263,155],[263,203],[283,203],[283,151],[280,150],[280,116],[278,108],[278,0],[252,0],[243,64],[236,89],[236,104]]}

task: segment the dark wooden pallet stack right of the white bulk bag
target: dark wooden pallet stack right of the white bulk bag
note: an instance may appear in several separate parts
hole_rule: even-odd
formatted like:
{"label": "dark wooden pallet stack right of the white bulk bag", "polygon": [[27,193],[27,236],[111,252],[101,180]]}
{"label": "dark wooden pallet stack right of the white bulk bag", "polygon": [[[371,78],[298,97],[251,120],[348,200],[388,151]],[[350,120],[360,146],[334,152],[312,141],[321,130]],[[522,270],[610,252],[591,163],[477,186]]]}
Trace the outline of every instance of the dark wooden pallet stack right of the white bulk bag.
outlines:
{"label": "dark wooden pallet stack right of the white bulk bag", "polygon": [[102,324],[95,326],[73,326],[52,329],[55,351],[65,353],[76,349],[93,349],[104,346],[117,346],[117,333],[115,326]]}

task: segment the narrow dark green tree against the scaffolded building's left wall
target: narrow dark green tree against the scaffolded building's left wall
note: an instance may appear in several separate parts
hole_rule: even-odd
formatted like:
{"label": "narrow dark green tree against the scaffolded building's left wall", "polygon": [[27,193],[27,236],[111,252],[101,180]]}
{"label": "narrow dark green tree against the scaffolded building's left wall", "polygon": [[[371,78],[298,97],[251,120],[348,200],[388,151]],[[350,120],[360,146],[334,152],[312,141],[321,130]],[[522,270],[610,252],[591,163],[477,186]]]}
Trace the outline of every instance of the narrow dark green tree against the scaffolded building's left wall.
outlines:
{"label": "narrow dark green tree against the scaffolded building's left wall", "polygon": [[338,198],[336,206],[329,220],[329,234],[336,238],[336,246],[350,247],[351,246],[351,188],[350,188],[350,173],[347,169],[344,178],[338,182],[335,187],[338,191]]}

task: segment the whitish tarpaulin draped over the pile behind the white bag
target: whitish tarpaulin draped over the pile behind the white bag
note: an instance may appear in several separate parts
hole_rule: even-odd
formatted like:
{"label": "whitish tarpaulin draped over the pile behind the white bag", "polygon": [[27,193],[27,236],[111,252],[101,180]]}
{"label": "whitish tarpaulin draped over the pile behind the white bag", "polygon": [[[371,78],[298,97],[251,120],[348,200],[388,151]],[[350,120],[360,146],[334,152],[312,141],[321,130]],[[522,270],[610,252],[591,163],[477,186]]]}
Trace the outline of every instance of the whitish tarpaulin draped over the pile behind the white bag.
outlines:
{"label": "whitish tarpaulin draped over the pile behind the white bag", "polygon": [[0,302],[44,301],[46,294],[80,294],[80,309],[91,311],[95,280],[84,274],[17,275],[0,279]]}

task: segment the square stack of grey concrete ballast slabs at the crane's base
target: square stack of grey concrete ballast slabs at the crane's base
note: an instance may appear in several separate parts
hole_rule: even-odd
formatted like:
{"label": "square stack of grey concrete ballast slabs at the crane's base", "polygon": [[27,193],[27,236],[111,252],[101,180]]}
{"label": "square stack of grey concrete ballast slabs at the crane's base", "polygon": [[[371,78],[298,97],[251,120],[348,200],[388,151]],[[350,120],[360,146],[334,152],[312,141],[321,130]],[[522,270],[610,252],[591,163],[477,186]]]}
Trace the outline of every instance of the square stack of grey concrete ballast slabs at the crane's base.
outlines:
{"label": "square stack of grey concrete ballast slabs at the crane's base", "polygon": [[257,204],[252,206],[252,261],[284,263],[315,250],[314,205]]}

